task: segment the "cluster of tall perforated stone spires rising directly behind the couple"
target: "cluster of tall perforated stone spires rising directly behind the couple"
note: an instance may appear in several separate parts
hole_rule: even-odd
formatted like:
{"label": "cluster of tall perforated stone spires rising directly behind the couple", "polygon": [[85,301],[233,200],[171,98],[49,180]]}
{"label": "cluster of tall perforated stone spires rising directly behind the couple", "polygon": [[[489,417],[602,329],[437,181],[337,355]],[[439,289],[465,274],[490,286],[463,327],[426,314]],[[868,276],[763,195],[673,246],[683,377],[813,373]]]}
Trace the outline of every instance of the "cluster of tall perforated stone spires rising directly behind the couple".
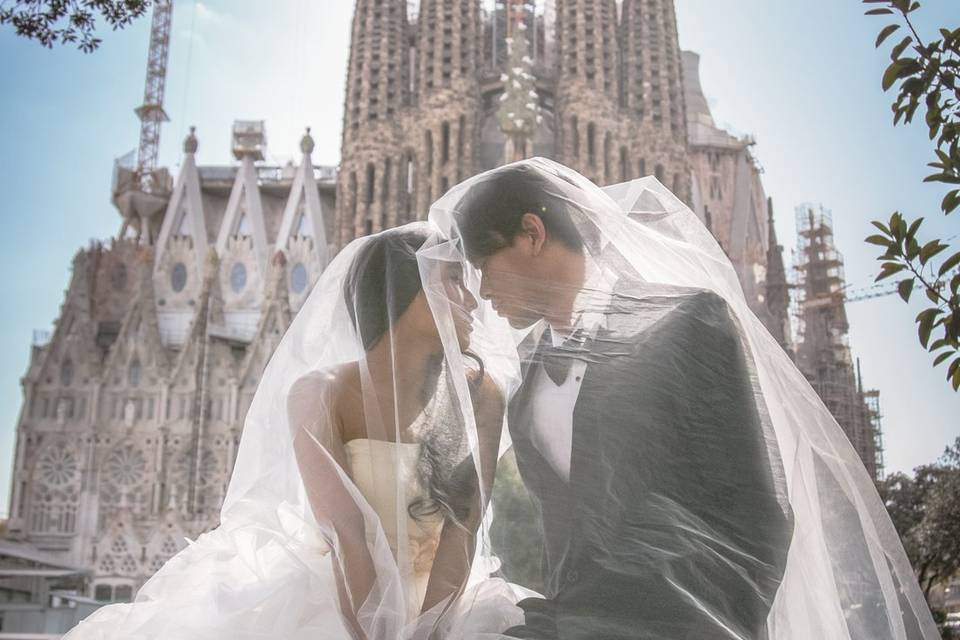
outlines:
{"label": "cluster of tall perforated stone spires rising directly behind the couple", "polygon": [[[522,146],[599,184],[654,174],[691,193],[672,0],[358,0],[337,184],[337,248],[425,218],[465,178],[503,164],[497,107],[523,23],[541,118]],[[515,141],[511,141],[515,142]]]}

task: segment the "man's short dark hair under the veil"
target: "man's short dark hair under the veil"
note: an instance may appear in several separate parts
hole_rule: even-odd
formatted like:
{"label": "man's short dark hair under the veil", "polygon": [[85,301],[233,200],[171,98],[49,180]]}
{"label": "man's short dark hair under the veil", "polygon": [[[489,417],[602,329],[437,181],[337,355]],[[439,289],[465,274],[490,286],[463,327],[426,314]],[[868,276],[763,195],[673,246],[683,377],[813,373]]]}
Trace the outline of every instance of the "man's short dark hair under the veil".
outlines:
{"label": "man's short dark hair under the veil", "polygon": [[545,175],[529,165],[494,169],[471,186],[454,216],[467,259],[476,262],[510,246],[525,213],[540,216],[548,236],[583,251],[574,224],[577,206]]}

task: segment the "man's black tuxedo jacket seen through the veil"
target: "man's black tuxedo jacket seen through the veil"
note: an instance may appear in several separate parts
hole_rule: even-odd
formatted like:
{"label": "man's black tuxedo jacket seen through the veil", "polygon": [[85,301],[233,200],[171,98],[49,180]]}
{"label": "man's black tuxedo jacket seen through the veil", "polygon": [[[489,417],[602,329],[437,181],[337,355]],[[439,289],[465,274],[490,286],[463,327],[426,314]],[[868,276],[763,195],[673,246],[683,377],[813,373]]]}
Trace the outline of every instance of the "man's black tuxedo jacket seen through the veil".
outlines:
{"label": "man's black tuxedo jacket seen through the veil", "polygon": [[578,357],[587,365],[569,483],[530,439],[536,353],[510,401],[517,466],[540,515],[546,599],[522,601],[525,624],[508,635],[732,637],[719,621],[761,637],[792,517],[776,497],[726,303],[620,286]]}

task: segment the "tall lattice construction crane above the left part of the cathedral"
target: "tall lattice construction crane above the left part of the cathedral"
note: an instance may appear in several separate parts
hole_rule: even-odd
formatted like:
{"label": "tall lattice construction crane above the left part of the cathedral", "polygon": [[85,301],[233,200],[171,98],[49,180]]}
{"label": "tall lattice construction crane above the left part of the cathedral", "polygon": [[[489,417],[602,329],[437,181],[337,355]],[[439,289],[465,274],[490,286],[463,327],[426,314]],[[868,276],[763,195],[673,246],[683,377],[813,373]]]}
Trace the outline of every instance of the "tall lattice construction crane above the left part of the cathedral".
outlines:
{"label": "tall lattice construction crane above the left part of the cathedral", "polygon": [[133,228],[137,241],[147,245],[153,244],[160,223],[157,214],[166,208],[171,189],[170,174],[166,169],[157,167],[157,159],[160,154],[160,125],[170,120],[163,110],[163,94],[167,82],[172,20],[173,0],[154,0],[143,104],[134,110],[140,118],[136,164],[130,162],[129,156],[114,164],[113,204],[123,216],[119,237],[124,237],[127,230]]}

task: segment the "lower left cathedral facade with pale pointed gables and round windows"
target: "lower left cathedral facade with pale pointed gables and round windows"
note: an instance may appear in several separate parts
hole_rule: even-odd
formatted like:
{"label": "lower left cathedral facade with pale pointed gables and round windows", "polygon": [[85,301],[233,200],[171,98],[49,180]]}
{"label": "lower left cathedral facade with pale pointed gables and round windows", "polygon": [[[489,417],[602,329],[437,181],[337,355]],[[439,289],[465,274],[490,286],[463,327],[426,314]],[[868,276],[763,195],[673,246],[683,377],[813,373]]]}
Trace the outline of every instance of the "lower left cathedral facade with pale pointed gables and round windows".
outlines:
{"label": "lower left cathedral facade with pale pointed gables and round windows", "polygon": [[155,228],[77,253],[32,348],[7,537],[92,570],[97,600],[218,524],[260,374],[328,261],[335,170],[309,135],[296,166],[264,145],[238,122],[237,163],[198,167],[191,133]]}

